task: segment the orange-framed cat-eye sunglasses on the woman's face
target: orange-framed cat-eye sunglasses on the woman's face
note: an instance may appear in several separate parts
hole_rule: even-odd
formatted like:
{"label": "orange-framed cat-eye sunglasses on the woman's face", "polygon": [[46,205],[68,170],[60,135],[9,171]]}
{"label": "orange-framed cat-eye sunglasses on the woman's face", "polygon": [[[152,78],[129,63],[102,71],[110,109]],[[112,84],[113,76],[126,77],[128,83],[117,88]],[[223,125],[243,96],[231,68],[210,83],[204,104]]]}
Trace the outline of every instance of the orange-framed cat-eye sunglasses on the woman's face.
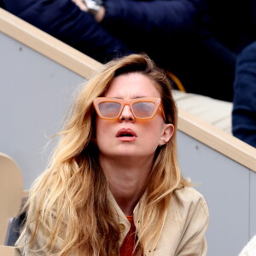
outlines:
{"label": "orange-framed cat-eye sunglasses on the woman's face", "polygon": [[130,100],[116,98],[98,97],[93,102],[96,113],[102,119],[117,119],[121,115],[125,105],[131,109],[136,119],[153,119],[158,108],[160,108],[164,120],[166,116],[161,105],[160,98],[145,97]]}

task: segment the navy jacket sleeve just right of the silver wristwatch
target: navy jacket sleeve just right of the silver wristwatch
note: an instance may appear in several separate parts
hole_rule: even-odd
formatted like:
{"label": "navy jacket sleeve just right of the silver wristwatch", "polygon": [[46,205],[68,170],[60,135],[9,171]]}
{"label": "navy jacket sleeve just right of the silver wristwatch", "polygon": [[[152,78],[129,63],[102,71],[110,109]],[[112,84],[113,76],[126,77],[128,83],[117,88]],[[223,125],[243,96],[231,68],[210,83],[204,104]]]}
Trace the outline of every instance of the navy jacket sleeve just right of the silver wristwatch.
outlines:
{"label": "navy jacket sleeve just right of the silver wristwatch", "polygon": [[[129,31],[164,32],[168,36],[190,33],[195,24],[198,1],[127,1],[107,0],[104,26],[119,27]],[[118,23],[117,23],[118,22]]]}

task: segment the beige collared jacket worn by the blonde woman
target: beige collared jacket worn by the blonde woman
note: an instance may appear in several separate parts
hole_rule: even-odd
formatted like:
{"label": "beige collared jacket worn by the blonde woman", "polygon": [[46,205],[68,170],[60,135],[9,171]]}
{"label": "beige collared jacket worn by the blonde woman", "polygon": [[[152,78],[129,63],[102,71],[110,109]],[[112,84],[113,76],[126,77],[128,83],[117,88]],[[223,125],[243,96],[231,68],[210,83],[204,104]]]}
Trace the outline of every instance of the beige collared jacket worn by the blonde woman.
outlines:
{"label": "beige collared jacket worn by the blonde woman", "polygon": [[[113,199],[113,195],[109,193],[109,200],[113,204],[116,210],[117,219],[119,220],[122,244],[125,236],[130,230],[130,223],[125,217],[124,212],[121,211],[116,201]],[[134,223],[137,225],[140,220],[140,212],[138,207],[134,210]],[[205,239],[205,232],[208,225],[208,208],[207,202],[203,196],[195,189],[184,187],[177,189],[173,193],[172,201],[169,210],[166,215],[166,221],[163,230],[160,234],[160,240],[157,244],[154,252],[146,250],[147,256],[204,256],[207,255],[207,242]],[[17,241],[18,245],[24,244],[27,237],[30,236],[30,229],[26,230],[26,234],[20,235]],[[45,233],[45,231],[44,231]],[[63,234],[58,236],[55,249],[61,247]],[[38,250],[44,246],[45,234],[39,230],[36,242],[33,245],[33,249]],[[139,236],[139,234],[138,234]],[[62,238],[61,238],[62,237]],[[40,253],[34,253],[28,250],[27,247],[15,250],[15,256],[35,256],[46,255],[44,251]],[[56,254],[57,255],[57,254]],[[69,253],[68,256],[75,256],[73,253]],[[86,255],[87,256],[87,255]]]}

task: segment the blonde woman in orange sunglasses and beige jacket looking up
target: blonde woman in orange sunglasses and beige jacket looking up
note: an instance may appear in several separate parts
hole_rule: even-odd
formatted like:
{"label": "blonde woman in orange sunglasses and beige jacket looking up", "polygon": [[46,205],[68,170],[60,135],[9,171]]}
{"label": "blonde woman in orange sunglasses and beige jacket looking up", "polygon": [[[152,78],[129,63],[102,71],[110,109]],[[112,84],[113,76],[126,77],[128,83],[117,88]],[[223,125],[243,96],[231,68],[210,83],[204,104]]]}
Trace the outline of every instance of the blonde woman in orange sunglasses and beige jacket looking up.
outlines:
{"label": "blonde woman in orange sunglasses and beige jacket looking up", "polygon": [[105,65],[31,190],[16,255],[206,255],[207,203],[177,166],[176,127],[147,56]]}

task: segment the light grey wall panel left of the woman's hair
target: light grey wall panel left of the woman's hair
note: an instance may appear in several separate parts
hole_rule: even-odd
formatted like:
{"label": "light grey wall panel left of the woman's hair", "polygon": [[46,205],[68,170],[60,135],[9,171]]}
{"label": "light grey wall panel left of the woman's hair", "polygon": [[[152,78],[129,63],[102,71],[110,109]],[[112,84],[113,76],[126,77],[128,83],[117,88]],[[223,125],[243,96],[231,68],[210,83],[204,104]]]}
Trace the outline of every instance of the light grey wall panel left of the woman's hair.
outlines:
{"label": "light grey wall panel left of the woman's hair", "polygon": [[15,159],[28,189],[45,169],[55,146],[49,137],[61,130],[84,79],[3,33],[0,45],[0,151]]}

